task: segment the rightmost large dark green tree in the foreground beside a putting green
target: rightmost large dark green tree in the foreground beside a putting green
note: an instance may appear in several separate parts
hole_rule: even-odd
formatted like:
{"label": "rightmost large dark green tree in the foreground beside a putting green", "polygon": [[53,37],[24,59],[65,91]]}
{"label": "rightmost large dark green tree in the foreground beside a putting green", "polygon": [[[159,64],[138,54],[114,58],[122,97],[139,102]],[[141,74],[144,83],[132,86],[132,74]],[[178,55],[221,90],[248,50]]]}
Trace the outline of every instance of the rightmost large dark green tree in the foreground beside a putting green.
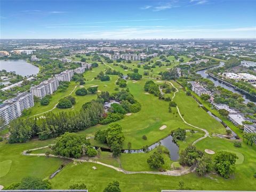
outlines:
{"label": "rightmost large dark green tree in the foreground beside a putting green", "polygon": [[214,169],[224,178],[229,178],[235,172],[235,163],[238,157],[234,153],[220,151],[214,157]]}

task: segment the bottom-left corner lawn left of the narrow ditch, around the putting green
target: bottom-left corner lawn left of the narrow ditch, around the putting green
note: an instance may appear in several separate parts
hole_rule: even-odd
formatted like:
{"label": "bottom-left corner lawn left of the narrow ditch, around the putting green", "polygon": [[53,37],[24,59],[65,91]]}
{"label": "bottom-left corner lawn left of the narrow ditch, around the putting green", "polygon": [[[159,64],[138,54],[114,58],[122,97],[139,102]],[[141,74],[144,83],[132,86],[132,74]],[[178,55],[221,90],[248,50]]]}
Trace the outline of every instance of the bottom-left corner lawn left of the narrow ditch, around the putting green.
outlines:
{"label": "bottom-left corner lawn left of the narrow ditch, around the putting green", "polygon": [[36,156],[21,155],[23,150],[47,146],[53,142],[53,139],[45,141],[29,141],[27,143],[6,144],[0,142],[0,158],[1,158],[1,174],[2,165],[5,161],[12,161],[10,171],[0,179],[0,185],[7,186],[13,182],[19,182],[24,177],[39,177],[42,179],[48,178],[56,171],[63,160],[59,158],[46,158]]}

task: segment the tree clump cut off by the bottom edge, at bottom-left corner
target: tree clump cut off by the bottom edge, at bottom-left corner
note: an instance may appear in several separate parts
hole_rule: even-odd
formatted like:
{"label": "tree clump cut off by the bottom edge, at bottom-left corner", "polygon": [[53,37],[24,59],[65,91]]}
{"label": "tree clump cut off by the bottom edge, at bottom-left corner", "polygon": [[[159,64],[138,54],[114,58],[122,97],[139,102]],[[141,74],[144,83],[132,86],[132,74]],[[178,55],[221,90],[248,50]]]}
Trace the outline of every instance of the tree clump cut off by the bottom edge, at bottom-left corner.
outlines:
{"label": "tree clump cut off by the bottom edge, at bottom-left corner", "polygon": [[12,183],[9,187],[5,188],[7,190],[45,190],[51,189],[51,183],[48,180],[41,180],[34,177],[26,177],[21,180],[20,183]]}

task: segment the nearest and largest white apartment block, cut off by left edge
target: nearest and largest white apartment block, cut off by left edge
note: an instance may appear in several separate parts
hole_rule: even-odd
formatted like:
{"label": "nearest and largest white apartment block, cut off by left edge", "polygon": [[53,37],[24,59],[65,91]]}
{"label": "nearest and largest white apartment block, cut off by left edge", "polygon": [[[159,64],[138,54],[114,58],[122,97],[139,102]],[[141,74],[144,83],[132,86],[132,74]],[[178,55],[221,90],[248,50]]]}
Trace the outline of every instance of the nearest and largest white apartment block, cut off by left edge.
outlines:
{"label": "nearest and largest white apartment block, cut off by left edge", "polygon": [[11,120],[20,117],[24,109],[33,106],[33,94],[28,92],[20,93],[17,97],[6,100],[0,105],[0,117],[5,120],[6,124],[9,124]]}

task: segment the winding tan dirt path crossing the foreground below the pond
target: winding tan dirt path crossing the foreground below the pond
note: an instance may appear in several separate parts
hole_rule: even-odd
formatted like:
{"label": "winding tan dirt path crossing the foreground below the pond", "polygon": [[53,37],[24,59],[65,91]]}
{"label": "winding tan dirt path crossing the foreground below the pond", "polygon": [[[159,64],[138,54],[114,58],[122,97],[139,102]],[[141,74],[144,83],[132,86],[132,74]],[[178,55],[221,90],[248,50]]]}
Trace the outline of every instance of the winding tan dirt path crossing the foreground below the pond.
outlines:
{"label": "winding tan dirt path crossing the foreground below the pond", "polygon": [[[48,146],[46,146],[46,147],[48,147]],[[46,147],[39,147],[39,148],[29,149],[29,150],[37,150],[37,149],[42,149],[42,148],[46,148]],[[27,154],[26,151],[23,151],[22,155],[26,155],[26,156],[46,156],[45,154],[31,154],[31,153]],[[182,168],[181,170],[172,170],[172,171],[171,170],[167,170],[166,172],[158,172],[158,171],[126,171],[126,170],[124,170],[122,168],[115,167],[113,165],[109,165],[109,164],[98,162],[98,161],[93,161],[92,159],[76,159],[76,158],[70,158],[70,157],[62,157],[62,156],[59,156],[59,155],[49,155],[49,157],[65,158],[65,159],[72,160],[74,162],[96,163],[96,164],[103,165],[103,166],[109,167],[111,169],[114,169],[114,170],[116,170],[118,172],[122,172],[124,174],[145,173],[145,174],[161,174],[161,175],[169,175],[169,176],[180,176],[180,175],[188,174],[188,173],[194,171],[194,170],[190,170],[189,168]]]}

